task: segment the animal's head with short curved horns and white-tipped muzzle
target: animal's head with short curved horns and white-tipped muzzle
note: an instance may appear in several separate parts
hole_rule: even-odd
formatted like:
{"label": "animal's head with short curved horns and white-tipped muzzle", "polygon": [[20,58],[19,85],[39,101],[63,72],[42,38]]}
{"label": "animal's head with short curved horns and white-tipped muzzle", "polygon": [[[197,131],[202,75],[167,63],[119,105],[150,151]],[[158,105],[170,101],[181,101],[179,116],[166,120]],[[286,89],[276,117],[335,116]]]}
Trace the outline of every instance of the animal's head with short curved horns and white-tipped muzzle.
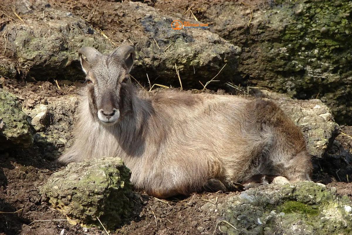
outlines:
{"label": "animal's head with short curved horns and white-tipped muzzle", "polygon": [[78,56],[86,73],[90,112],[101,123],[113,125],[132,109],[133,85],[129,73],[134,60],[133,47],[121,46],[109,55],[83,47]]}

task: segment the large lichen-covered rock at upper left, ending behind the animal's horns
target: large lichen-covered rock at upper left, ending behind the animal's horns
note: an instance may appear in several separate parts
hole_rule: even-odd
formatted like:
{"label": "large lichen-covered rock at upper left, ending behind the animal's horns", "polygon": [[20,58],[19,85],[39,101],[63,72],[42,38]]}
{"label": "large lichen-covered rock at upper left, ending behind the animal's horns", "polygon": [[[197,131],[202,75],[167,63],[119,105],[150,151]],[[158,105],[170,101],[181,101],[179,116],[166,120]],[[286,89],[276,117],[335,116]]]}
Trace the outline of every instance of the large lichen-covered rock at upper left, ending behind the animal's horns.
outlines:
{"label": "large lichen-covered rock at upper left, ending behind the animal's horns", "polygon": [[5,25],[7,46],[0,61],[7,63],[0,65],[1,76],[14,78],[15,68],[18,68],[21,74],[36,80],[83,79],[77,60],[79,48],[94,47],[101,52],[113,50],[113,45],[84,19],[53,9],[48,2],[31,4],[21,0],[14,2],[14,7],[18,14],[31,17],[23,18],[25,24],[13,20]]}

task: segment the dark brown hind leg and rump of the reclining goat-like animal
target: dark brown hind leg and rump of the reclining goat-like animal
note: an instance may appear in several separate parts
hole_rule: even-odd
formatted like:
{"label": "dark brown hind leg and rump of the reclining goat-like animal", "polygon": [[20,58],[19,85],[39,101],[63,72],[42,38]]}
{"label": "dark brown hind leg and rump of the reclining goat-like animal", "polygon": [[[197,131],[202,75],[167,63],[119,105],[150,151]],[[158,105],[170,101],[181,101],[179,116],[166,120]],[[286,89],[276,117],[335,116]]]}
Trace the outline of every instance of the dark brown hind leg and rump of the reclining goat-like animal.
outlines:
{"label": "dark brown hind leg and rump of the reclining goat-like animal", "polygon": [[249,118],[263,134],[272,136],[266,155],[270,174],[285,176],[290,181],[310,180],[312,163],[301,129],[271,101],[256,100],[252,106]]}

